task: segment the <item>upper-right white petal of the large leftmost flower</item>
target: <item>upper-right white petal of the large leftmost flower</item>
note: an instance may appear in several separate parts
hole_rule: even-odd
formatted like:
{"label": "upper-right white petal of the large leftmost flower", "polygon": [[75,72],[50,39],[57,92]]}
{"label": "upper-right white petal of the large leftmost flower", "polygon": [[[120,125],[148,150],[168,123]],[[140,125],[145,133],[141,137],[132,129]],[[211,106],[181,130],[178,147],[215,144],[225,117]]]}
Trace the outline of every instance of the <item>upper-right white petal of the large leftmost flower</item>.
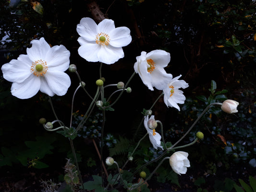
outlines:
{"label": "upper-right white petal of the large leftmost flower", "polygon": [[49,70],[64,72],[69,68],[70,52],[63,45],[50,48],[46,55]]}

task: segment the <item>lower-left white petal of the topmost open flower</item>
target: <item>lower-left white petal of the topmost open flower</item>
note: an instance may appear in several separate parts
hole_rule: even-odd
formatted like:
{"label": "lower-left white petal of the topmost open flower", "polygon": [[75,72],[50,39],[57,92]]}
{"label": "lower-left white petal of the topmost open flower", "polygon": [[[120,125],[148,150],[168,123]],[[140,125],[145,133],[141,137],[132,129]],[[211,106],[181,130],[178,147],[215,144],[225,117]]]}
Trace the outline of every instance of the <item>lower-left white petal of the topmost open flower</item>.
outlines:
{"label": "lower-left white petal of the topmost open flower", "polygon": [[91,43],[84,44],[83,46],[80,46],[78,48],[78,54],[87,61],[97,62],[97,61],[99,61],[98,51],[100,50],[100,46],[101,45],[98,45],[96,43],[95,44],[91,44]]}

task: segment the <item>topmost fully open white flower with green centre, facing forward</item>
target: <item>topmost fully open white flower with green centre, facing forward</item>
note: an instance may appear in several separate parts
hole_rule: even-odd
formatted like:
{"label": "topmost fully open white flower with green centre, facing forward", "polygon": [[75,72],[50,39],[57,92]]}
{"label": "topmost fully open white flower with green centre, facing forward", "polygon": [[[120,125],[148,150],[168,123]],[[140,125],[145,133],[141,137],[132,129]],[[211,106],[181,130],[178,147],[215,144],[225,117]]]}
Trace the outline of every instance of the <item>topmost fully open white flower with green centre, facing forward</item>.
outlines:
{"label": "topmost fully open white flower with green centre, facing forward", "polygon": [[132,41],[130,29],[115,28],[114,21],[104,19],[98,25],[89,17],[82,18],[76,27],[81,45],[79,55],[87,61],[112,64],[124,57],[122,47]]}

